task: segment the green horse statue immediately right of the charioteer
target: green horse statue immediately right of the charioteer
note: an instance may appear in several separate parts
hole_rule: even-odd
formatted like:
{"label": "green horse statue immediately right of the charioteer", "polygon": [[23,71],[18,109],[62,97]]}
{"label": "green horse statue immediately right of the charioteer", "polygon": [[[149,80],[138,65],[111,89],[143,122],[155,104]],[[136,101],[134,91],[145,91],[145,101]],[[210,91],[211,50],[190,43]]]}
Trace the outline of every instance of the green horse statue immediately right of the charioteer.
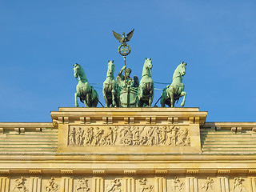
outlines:
{"label": "green horse statue immediately right of the charioteer", "polygon": [[138,86],[138,106],[150,106],[154,98],[154,82],[151,78],[152,61],[146,58],[142,70],[142,79]]}

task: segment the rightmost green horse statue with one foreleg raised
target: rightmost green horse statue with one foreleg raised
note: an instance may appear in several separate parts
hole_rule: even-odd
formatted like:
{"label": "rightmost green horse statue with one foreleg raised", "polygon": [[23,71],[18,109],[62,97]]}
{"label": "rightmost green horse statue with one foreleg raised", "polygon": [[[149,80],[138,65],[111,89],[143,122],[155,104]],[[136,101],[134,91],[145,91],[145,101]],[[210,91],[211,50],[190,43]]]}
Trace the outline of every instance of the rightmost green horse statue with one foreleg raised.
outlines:
{"label": "rightmost green horse statue with one foreleg raised", "polygon": [[185,105],[186,101],[186,92],[184,91],[184,84],[182,83],[182,76],[186,74],[186,64],[182,62],[181,64],[178,65],[176,70],[174,71],[173,75],[173,81],[169,86],[166,86],[164,90],[162,90],[162,95],[161,95],[161,106],[165,107],[170,106],[174,107],[174,103],[178,99],[184,96],[183,101],[181,106]]}

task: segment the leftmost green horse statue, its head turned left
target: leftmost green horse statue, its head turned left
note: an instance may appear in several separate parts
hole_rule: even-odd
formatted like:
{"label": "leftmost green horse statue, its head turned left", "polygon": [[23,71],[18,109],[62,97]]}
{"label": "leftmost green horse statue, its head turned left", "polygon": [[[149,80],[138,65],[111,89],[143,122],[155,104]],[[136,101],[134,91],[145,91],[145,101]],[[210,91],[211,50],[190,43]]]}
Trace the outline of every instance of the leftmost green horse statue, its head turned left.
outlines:
{"label": "leftmost green horse statue, its head turned left", "polygon": [[93,86],[90,86],[86,78],[85,71],[78,63],[74,65],[74,77],[79,78],[78,85],[76,87],[77,93],[74,94],[75,106],[78,107],[78,98],[81,102],[84,102],[86,107],[95,107],[98,104],[98,93],[94,90]]}

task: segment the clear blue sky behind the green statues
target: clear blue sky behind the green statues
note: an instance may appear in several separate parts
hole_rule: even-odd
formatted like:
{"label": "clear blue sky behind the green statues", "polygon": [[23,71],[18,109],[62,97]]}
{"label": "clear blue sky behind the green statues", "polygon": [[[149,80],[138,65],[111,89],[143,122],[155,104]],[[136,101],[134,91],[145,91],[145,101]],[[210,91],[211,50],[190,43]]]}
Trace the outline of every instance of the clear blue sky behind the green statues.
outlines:
{"label": "clear blue sky behind the green statues", "polygon": [[[186,107],[208,111],[210,122],[255,122],[255,10],[250,0],[1,0],[0,122],[50,122],[50,111],[73,107],[75,62],[98,83],[114,60],[116,77],[123,58],[111,30],[132,29],[132,75],[141,78],[152,58],[153,80],[170,83],[188,62]],[[154,102],[160,95],[155,90]]]}

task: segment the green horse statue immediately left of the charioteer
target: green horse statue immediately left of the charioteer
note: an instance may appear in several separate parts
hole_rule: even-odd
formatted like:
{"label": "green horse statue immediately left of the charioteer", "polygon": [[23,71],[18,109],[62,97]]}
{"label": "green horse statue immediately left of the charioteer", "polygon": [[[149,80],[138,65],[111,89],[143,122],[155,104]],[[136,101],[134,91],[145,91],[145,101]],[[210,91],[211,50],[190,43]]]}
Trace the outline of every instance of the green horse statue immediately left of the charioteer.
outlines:
{"label": "green horse statue immediately left of the charioteer", "polygon": [[106,102],[106,107],[119,106],[119,88],[118,84],[114,81],[114,60],[109,61],[107,64],[106,80],[103,82],[103,96]]}

